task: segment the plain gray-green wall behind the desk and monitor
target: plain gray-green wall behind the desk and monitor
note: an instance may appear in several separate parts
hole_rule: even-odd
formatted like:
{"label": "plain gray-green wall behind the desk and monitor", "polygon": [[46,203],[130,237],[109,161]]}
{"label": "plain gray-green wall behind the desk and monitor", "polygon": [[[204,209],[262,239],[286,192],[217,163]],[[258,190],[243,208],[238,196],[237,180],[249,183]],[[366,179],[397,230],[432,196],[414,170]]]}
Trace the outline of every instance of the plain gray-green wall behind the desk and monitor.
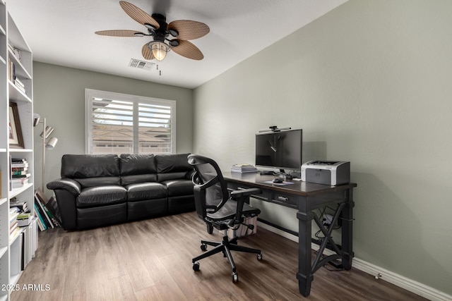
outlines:
{"label": "plain gray-green wall behind the desk and monitor", "polygon": [[194,152],[228,170],[254,163],[258,130],[303,128],[304,161],[352,162],[355,256],[452,294],[451,16],[449,0],[348,1],[196,88]]}

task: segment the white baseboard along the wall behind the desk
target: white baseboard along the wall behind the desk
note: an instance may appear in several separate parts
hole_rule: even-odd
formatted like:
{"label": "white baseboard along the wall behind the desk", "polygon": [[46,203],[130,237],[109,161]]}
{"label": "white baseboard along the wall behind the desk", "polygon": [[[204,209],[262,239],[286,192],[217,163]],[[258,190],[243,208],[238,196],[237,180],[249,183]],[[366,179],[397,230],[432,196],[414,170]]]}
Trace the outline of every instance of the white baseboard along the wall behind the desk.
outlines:
{"label": "white baseboard along the wall behind the desk", "polygon": [[[269,226],[266,223],[261,223],[260,221],[258,221],[258,227],[264,228],[270,232],[281,235],[292,241],[298,242],[297,236],[287,233],[285,231],[282,231],[278,228]],[[319,250],[319,245],[312,244],[311,247],[313,250]],[[325,250],[325,254],[329,255],[329,254],[333,254],[333,252],[331,252],[330,250]],[[379,280],[387,281],[388,283],[396,285],[399,288],[403,288],[405,290],[408,290],[412,293],[415,293],[416,295],[420,295],[429,300],[434,300],[434,301],[452,300],[452,295],[448,295],[439,290],[431,288],[427,285],[424,285],[417,281],[413,281],[410,278],[406,278],[404,276],[393,273],[392,271],[382,269],[379,266],[376,266],[369,262],[365,262],[364,260],[359,259],[357,257],[353,258],[352,267],[359,269],[360,271],[364,271],[367,274],[371,274],[372,276],[375,276],[376,281],[379,281]]]}

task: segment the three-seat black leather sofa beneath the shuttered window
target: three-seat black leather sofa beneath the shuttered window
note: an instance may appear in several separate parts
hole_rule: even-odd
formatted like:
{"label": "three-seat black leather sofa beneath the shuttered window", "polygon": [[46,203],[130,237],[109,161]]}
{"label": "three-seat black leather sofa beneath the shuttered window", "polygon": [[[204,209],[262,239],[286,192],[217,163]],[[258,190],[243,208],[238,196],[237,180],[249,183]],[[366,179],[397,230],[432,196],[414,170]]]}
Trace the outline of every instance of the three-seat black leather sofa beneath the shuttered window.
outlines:
{"label": "three-seat black leather sofa beneath the shuttered window", "polygon": [[194,211],[189,154],[65,154],[47,183],[65,230]]}

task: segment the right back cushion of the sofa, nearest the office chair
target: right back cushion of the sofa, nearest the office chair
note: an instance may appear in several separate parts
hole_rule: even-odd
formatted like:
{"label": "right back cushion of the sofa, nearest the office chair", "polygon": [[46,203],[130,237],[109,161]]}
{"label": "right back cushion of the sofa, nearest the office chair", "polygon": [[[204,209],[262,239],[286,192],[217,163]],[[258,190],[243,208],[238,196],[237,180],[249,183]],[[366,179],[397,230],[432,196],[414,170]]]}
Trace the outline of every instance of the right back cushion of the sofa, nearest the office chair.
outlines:
{"label": "right back cushion of the sofa, nearest the office chair", "polygon": [[189,164],[187,156],[189,154],[155,155],[158,181],[186,178],[186,175],[193,171],[193,166]]}

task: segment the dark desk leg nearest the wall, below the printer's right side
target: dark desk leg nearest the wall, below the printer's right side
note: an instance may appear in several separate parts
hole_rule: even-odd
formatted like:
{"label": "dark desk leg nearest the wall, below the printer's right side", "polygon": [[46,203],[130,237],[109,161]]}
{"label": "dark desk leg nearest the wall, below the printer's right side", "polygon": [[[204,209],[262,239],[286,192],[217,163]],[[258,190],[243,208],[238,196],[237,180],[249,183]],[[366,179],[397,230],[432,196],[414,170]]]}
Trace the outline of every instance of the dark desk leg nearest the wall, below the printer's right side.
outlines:
{"label": "dark desk leg nearest the wall, below the printer's right side", "polygon": [[342,250],[343,259],[342,265],[347,271],[352,269],[352,259],[355,256],[353,253],[353,192],[351,189],[345,190],[345,206],[342,209]]}

